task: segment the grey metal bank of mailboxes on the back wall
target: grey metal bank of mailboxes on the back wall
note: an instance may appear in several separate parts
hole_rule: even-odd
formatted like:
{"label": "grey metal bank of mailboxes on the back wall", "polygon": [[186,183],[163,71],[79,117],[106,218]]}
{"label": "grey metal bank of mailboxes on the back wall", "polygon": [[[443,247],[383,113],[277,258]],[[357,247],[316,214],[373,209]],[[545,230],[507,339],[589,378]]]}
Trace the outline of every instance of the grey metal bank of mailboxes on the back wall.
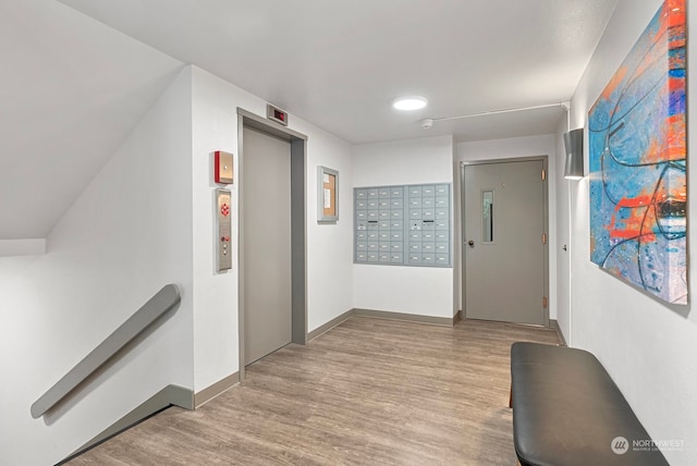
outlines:
{"label": "grey metal bank of mailboxes on the back wall", "polygon": [[450,184],[354,188],[354,262],[451,266]]}

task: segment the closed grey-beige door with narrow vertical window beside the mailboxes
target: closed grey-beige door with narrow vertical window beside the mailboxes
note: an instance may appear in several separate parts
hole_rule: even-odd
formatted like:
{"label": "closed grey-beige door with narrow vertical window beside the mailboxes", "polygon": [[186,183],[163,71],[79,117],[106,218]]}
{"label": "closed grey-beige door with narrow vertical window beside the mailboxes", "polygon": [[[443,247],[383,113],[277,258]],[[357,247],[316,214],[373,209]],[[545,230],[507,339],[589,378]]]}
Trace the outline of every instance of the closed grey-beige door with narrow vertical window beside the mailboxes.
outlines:
{"label": "closed grey-beige door with narrow vertical window beside the mailboxes", "polygon": [[542,160],[464,168],[464,311],[546,324]]}

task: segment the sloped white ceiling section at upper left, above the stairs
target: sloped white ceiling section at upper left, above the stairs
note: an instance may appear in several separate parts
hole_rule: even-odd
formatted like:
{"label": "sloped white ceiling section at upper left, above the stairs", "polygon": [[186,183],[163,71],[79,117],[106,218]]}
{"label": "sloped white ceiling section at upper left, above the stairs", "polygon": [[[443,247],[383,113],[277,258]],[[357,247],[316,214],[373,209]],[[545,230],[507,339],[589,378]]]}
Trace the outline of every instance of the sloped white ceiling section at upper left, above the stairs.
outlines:
{"label": "sloped white ceiling section at upper left, above the stairs", "polygon": [[183,64],[52,0],[0,2],[0,240],[46,237]]}

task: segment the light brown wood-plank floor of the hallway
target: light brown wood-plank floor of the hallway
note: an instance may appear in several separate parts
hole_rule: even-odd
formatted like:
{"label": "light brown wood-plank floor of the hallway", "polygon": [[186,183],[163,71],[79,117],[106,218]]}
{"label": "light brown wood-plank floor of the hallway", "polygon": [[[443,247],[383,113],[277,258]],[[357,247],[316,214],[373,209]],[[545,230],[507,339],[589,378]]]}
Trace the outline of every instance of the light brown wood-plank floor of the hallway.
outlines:
{"label": "light brown wood-plank floor of the hallway", "polygon": [[553,330],[352,317],[249,366],[196,410],[169,408],[80,465],[515,465],[510,347]]}

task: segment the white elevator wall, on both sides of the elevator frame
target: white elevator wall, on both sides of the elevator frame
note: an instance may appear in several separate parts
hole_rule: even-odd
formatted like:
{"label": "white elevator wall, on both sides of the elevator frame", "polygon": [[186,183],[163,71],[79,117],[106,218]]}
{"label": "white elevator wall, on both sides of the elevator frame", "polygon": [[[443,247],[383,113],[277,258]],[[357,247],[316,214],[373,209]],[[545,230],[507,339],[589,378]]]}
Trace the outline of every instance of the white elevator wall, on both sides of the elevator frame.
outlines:
{"label": "white elevator wall, on both sides of the elevator frame", "polygon": [[[233,268],[215,268],[217,235],[211,154],[233,152],[239,180],[237,108],[266,115],[266,102],[200,69],[193,68],[193,235],[194,235],[194,340],[195,390],[240,370],[237,330],[239,217],[233,214]],[[305,134],[307,318],[313,331],[353,307],[351,146],[337,137],[289,115],[289,128]],[[340,220],[317,224],[317,165],[339,171]],[[232,211],[237,212],[239,183],[232,189]],[[272,286],[272,284],[269,284]]]}

